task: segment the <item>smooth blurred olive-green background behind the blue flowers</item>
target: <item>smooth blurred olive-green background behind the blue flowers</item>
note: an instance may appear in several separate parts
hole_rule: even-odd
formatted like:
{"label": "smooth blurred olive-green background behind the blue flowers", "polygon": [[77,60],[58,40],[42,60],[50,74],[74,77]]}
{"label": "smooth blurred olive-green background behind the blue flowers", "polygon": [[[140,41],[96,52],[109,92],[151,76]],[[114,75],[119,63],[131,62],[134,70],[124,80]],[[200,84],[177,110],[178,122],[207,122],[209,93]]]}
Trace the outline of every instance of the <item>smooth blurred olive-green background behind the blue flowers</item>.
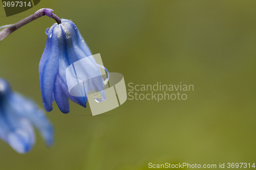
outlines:
{"label": "smooth blurred olive-green background behind the blue flowers", "polygon": [[[0,140],[0,169],[140,169],[149,162],[253,163],[256,158],[256,1],[41,1],[6,17],[17,22],[40,8],[72,19],[93,54],[128,83],[193,84],[187,100],[127,100],[92,116],[70,101],[47,113],[55,144],[36,133],[33,150],[16,153]],[[15,91],[42,106],[38,63],[45,30],[38,18],[0,42],[0,72]],[[147,93],[147,92],[144,92]],[[147,169],[147,168],[145,168]]]}

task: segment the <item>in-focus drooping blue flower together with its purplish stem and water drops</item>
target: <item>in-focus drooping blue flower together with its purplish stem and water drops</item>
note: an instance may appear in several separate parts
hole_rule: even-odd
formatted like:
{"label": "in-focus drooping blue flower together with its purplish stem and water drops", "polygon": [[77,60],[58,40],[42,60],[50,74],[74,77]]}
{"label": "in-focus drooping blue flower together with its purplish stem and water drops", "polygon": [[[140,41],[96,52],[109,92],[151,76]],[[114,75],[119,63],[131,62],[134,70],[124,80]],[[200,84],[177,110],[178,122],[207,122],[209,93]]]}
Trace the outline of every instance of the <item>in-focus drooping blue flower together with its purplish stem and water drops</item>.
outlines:
{"label": "in-focus drooping blue flower together with its purplish stem and water drops", "polygon": [[108,70],[96,63],[74,23],[59,19],[52,12],[52,9],[42,8],[12,25],[0,27],[0,41],[41,16],[55,19],[57,23],[46,30],[46,47],[39,63],[45,110],[52,110],[54,99],[63,113],[69,112],[69,99],[86,107],[89,92],[95,92],[96,102],[106,100],[104,85],[109,80]]}

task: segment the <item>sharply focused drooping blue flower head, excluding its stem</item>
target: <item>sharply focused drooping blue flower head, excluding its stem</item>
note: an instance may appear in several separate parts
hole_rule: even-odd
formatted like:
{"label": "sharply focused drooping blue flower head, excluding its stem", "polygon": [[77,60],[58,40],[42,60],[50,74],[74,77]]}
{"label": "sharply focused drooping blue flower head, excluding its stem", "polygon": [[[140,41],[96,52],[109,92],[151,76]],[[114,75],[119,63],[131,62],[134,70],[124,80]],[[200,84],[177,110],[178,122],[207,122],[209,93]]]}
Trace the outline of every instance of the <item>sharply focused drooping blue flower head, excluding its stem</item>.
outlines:
{"label": "sharply focused drooping blue flower head, excluding its stem", "polygon": [[[54,23],[46,30],[46,34],[46,47],[39,63],[39,81],[45,110],[50,112],[53,109],[54,99],[63,113],[69,113],[69,99],[86,107],[87,94],[90,91],[100,91],[102,99],[105,100],[102,91],[104,83],[101,76],[99,79],[100,65],[96,63],[75,24],[70,20],[61,19],[61,23]],[[79,61],[79,72],[71,71],[70,75],[73,76],[66,78],[66,69],[72,64],[74,67],[74,63]],[[78,77],[90,81],[78,83],[77,90],[80,90],[82,95],[71,95],[68,84],[77,84]]]}

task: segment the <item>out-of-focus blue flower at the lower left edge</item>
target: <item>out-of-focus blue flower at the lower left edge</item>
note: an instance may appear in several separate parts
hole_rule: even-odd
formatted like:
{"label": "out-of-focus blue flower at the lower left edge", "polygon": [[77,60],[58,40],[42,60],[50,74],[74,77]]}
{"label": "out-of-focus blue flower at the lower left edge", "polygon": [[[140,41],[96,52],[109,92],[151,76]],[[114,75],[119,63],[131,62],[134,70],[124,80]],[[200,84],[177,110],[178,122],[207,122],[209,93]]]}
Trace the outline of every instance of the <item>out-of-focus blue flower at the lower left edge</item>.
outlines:
{"label": "out-of-focus blue flower at the lower left edge", "polygon": [[18,153],[29,152],[35,143],[33,126],[48,145],[53,143],[53,127],[44,111],[0,79],[0,138]]}

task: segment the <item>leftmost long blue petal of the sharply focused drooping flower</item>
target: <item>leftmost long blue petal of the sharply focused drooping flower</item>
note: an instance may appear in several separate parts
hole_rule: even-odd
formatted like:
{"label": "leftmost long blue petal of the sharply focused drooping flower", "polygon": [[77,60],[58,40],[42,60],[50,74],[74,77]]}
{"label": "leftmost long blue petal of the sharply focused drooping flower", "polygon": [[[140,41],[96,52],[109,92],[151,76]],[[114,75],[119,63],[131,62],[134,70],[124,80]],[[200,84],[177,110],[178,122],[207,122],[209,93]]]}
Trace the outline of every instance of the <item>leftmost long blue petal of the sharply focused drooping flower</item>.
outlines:
{"label": "leftmost long blue petal of the sharply focused drooping flower", "polygon": [[53,34],[51,37],[50,51],[42,68],[40,79],[42,101],[45,110],[48,112],[52,110],[53,88],[58,72],[58,27],[59,25],[51,28],[53,30]]}

